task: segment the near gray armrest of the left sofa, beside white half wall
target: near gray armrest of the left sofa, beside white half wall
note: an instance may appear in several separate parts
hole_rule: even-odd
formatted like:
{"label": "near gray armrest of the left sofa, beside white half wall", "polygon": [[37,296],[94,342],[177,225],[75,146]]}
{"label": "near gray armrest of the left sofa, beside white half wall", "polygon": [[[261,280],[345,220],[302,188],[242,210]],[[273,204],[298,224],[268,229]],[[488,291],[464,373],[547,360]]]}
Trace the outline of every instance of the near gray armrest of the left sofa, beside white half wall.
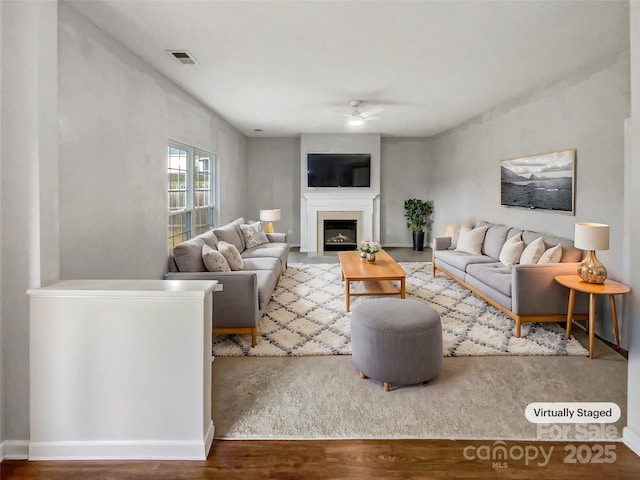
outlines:
{"label": "near gray armrest of the left sofa, beside white half wall", "polygon": [[254,272],[170,272],[166,280],[217,280],[222,291],[213,297],[213,326],[255,327],[260,319],[258,277]]}

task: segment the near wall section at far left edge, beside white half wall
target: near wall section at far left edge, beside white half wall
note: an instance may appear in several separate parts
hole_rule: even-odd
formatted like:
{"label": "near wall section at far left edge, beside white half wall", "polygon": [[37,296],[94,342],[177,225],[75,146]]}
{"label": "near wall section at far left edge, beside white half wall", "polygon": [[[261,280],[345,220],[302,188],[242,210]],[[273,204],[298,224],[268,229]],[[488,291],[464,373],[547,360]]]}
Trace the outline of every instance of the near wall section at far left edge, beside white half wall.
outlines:
{"label": "near wall section at far left edge, beside white half wall", "polygon": [[0,337],[5,458],[29,438],[29,299],[58,277],[57,5],[1,2]]}

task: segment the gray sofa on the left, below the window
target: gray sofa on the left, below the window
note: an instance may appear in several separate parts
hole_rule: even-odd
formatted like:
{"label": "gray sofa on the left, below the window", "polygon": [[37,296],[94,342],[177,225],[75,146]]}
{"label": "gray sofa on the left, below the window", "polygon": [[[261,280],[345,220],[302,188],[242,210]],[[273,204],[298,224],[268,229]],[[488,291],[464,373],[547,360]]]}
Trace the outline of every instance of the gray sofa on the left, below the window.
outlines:
{"label": "gray sofa on the left, below the window", "polygon": [[[222,291],[215,293],[213,302],[214,335],[251,334],[251,346],[255,346],[262,313],[287,267],[289,244],[286,234],[267,233],[267,243],[247,248],[241,226],[252,223],[239,218],[176,245],[165,279],[217,280]],[[218,250],[221,241],[240,253],[241,270],[207,270],[210,266],[205,265],[203,250]]]}

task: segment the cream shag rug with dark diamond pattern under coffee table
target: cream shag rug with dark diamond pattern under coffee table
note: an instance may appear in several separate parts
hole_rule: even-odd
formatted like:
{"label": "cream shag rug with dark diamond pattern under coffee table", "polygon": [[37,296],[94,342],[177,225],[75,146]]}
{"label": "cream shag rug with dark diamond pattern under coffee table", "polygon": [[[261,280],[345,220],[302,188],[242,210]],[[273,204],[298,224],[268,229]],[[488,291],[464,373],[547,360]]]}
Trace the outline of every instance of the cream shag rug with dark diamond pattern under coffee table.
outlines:
{"label": "cream shag rug with dark diamond pattern under coffee table", "polygon": [[[443,274],[431,276],[431,263],[402,262],[406,298],[434,308],[442,319],[445,356],[588,355],[556,323],[525,323],[514,335],[511,318]],[[358,286],[356,285],[356,288]],[[361,287],[361,286],[360,286]],[[352,299],[352,308],[372,297]],[[216,356],[350,355],[350,318],[338,264],[289,264],[258,329],[250,335],[214,337]]]}

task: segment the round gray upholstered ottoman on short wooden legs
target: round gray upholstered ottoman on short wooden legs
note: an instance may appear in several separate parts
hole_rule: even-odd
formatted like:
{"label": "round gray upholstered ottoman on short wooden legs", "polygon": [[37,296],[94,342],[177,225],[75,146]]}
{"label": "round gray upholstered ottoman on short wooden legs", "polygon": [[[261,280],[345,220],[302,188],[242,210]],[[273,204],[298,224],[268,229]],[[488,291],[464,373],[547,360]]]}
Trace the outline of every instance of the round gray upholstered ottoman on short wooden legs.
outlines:
{"label": "round gray upholstered ottoman on short wooden legs", "polygon": [[351,313],[351,354],[360,376],[386,391],[426,382],[442,370],[440,315],[415,300],[367,300]]}

